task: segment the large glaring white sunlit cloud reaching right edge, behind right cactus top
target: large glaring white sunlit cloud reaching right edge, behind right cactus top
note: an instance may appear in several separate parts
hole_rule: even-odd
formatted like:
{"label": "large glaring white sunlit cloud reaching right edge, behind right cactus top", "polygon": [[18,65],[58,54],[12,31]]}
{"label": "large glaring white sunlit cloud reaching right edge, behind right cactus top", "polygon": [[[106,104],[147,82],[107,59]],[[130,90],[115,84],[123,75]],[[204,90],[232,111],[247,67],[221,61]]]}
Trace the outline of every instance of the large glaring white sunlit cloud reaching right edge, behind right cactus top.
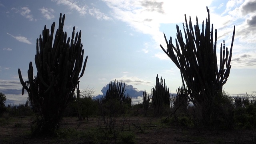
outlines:
{"label": "large glaring white sunlit cloud reaching right edge, behind right cactus top", "polygon": [[[126,22],[135,31],[150,35],[153,40],[150,44],[152,47],[160,48],[159,44],[162,44],[166,48],[166,42],[162,32],[160,32],[160,26],[162,24],[181,23],[185,21],[184,14],[186,14],[188,20],[189,16],[191,16],[192,24],[196,24],[195,19],[197,16],[200,29],[202,29],[202,21],[204,20],[205,22],[207,17],[206,6],[210,9],[211,23],[214,24],[214,29],[217,28],[218,30],[218,50],[220,48],[219,43],[223,42],[223,40],[225,40],[226,46],[230,48],[234,25],[236,25],[236,35],[233,51],[236,50],[236,46],[242,44],[243,49],[252,52],[256,45],[255,0],[229,0],[219,6],[214,6],[214,0],[178,0],[175,2],[175,6],[172,1],[167,0],[102,1],[106,2],[108,7],[111,8],[113,18]],[[198,5],[192,9],[191,6],[195,3]],[[182,7],[178,7],[179,5]],[[216,14],[215,10],[223,6],[226,6],[226,10],[221,15]],[[181,30],[183,29],[182,24],[178,26]],[[172,36],[175,36],[175,34],[176,32]],[[182,34],[184,35],[183,30]],[[166,37],[169,40],[170,34],[166,34]],[[172,38],[173,43],[175,38]],[[142,51],[147,53],[150,52],[150,49],[144,48]],[[161,60],[170,60],[164,52],[156,53],[155,57]],[[254,62],[254,58],[249,57],[248,61]]]}

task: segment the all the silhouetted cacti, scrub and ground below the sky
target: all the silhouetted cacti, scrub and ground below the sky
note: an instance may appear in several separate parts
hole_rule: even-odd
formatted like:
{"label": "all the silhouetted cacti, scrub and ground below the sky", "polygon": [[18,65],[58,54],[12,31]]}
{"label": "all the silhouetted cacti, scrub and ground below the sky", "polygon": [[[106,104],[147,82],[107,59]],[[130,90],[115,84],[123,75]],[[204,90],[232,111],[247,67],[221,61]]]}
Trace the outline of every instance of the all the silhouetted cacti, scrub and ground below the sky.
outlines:
{"label": "all the silhouetted cacti, scrub and ground below the sky", "polygon": [[255,97],[230,96],[222,89],[231,69],[235,27],[230,50],[224,42],[220,46],[218,64],[217,30],[207,11],[202,32],[197,20],[193,29],[185,16],[185,37],[177,26],[176,46],[165,35],[167,49],[160,45],[180,69],[183,84],[177,94],[170,94],[165,79],[157,75],[151,94],[144,91],[143,101],[135,105],[122,81],[110,82],[100,99],[92,99],[92,90],[80,92],[87,62],[81,31],[75,36],[73,28],[67,39],[60,14],[55,38],[53,23],[37,40],[37,75],[32,62],[27,81],[18,70],[22,94],[28,92],[26,104],[6,107],[1,93],[0,143],[256,143]]}

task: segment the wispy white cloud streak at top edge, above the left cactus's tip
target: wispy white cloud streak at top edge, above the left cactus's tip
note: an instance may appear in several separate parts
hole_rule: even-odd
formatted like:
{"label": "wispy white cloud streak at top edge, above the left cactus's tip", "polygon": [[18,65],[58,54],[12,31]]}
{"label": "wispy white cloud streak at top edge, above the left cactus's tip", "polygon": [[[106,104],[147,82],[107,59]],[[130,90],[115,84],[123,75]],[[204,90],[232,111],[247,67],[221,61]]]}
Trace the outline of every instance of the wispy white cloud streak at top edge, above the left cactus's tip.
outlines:
{"label": "wispy white cloud streak at top edge, above the left cactus's tip", "polygon": [[57,2],[57,4],[63,4],[65,6],[68,6],[71,10],[76,10],[80,15],[84,16],[87,12],[88,6],[84,4],[83,6],[77,4],[74,0],[52,0],[54,2]]}

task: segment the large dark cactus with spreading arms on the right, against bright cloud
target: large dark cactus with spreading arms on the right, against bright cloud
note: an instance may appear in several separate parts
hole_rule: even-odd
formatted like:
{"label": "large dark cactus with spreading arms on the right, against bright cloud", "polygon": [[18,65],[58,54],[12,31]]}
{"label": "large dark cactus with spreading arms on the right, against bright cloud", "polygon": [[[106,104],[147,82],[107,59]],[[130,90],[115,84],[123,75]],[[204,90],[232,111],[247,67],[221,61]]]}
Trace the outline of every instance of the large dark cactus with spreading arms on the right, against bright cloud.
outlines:
{"label": "large dark cactus with spreading arms on the right, against bright cloud", "polygon": [[222,44],[220,46],[218,70],[216,53],[217,30],[215,29],[214,35],[213,24],[212,28],[210,28],[210,10],[207,7],[206,9],[208,18],[206,18],[205,28],[204,22],[202,24],[202,32],[200,32],[198,19],[196,18],[196,25],[194,25],[193,30],[191,18],[189,19],[188,26],[185,15],[186,29],[183,23],[185,38],[183,38],[181,30],[177,25],[176,47],[172,44],[172,37],[170,37],[168,42],[165,35],[167,50],[162,45],[160,47],[180,69],[183,87],[186,84],[190,100],[194,106],[202,108],[202,115],[205,116],[203,119],[207,122],[211,120],[212,108],[221,99],[219,96],[221,96],[222,87],[230,74],[235,27],[230,52],[225,47],[225,41],[223,41],[223,51]]}

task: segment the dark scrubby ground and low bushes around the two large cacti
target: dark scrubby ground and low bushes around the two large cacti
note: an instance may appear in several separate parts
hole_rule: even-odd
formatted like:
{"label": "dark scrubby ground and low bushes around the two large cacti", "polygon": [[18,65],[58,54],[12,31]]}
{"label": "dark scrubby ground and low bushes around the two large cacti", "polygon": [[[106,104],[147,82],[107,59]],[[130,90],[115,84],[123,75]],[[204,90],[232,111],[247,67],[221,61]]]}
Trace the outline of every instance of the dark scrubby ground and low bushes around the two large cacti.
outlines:
{"label": "dark scrubby ground and low bushes around the two large cacti", "polygon": [[[155,116],[150,102],[147,116],[143,104],[103,114],[97,100],[81,97],[81,105],[73,101],[60,128],[52,136],[34,134],[36,115],[27,103],[8,105],[0,117],[1,144],[254,144],[256,143],[256,102],[251,96],[225,95],[227,112],[215,126],[196,125],[199,114],[194,107],[165,107]],[[171,101],[172,102],[172,101]],[[108,104],[104,108],[107,108]],[[230,108],[230,109],[229,109]],[[174,111],[176,112],[174,113]],[[105,110],[107,111],[107,109]],[[126,111],[125,113],[121,111]],[[117,114],[120,112],[119,114]],[[116,114],[114,114],[116,113]],[[173,113],[173,114],[172,114]],[[111,115],[112,114],[112,115]],[[172,114],[167,120],[168,114]],[[82,118],[79,120],[79,118]],[[88,119],[87,119],[88,118]],[[230,122],[230,123],[229,123]]]}

